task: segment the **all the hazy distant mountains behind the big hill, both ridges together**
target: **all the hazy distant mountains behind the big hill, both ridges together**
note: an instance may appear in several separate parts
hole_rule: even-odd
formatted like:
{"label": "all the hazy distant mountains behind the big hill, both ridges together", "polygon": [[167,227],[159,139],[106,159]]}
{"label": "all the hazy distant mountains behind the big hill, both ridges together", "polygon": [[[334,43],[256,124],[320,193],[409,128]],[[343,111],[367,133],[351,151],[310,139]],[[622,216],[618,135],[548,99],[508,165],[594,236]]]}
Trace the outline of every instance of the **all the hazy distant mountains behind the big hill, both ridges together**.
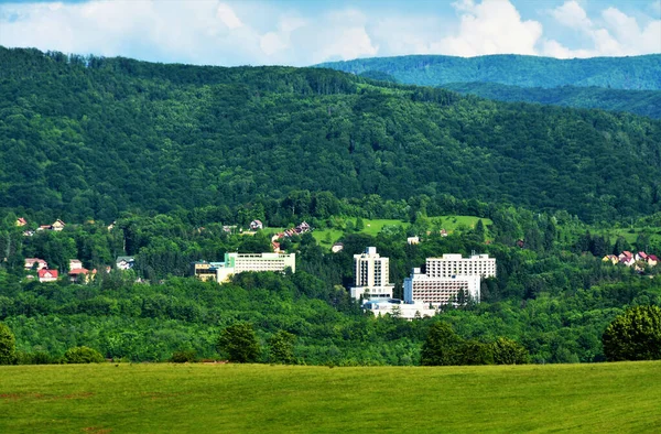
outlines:
{"label": "all the hazy distant mountains behind the big hill, both ridges together", "polygon": [[441,86],[502,101],[600,108],[661,118],[661,55],[658,54],[575,59],[419,55],[318,66],[402,84]]}

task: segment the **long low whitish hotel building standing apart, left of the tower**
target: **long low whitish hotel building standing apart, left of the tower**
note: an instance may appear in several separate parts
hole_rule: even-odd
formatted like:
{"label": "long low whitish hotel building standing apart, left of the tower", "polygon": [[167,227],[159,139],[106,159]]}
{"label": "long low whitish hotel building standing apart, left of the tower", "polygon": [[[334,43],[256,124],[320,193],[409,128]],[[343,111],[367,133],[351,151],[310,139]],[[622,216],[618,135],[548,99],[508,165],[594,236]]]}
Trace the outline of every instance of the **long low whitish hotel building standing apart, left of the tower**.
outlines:
{"label": "long low whitish hotel building standing apart, left of the tower", "polygon": [[225,262],[215,267],[216,281],[228,282],[231,274],[243,271],[275,271],[283,272],[290,268],[296,272],[295,253],[225,253]]}

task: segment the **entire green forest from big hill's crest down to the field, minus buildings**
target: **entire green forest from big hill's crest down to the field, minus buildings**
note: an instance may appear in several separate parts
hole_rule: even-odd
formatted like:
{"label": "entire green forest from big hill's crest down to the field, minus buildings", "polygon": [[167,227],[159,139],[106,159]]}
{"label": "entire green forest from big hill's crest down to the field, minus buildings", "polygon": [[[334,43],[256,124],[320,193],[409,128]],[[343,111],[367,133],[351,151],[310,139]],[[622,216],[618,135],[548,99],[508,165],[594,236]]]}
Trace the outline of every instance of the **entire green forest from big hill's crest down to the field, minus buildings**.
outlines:
{"label": "entire green forest from big hill's crest down to the field, minus buildings", "polygon": [[[438,322],[469,343],[512,339],[533,362],[600,361],[617,315],[661,305],[657,267],[602,260],[661,256],[660,137],[644,117],[379,74],[0,48],[0,321],[21,362],[76,346],[116,360],[215,359],[221,330],[243,322],[266,362],[267,343],[286,332],[296,362],[418,365]],[[443,237],[438,216],[452,215],[491,224]],[[56,218],[62,231],[36,230]],[[242,232],[252,219],[267,229]],[[369,235],[362,219],[405,225]],[[269,251],[273,232],[302,220],[313,234],[281,242],[295,273],[223,285],[188,276],[191,261]],[[324,229],[342,234],[344,250],[314,237]],[[368,246],[390,258],[399,296],[411,268],[443,253],[488,253],[497,276],[480,303],[373,317],[346,290],[353,254]],[[132,270],[106,272],[124,254]],[[24,258],[63,276],[41,283]],[[68,279],[72,259],[96,278]]]}

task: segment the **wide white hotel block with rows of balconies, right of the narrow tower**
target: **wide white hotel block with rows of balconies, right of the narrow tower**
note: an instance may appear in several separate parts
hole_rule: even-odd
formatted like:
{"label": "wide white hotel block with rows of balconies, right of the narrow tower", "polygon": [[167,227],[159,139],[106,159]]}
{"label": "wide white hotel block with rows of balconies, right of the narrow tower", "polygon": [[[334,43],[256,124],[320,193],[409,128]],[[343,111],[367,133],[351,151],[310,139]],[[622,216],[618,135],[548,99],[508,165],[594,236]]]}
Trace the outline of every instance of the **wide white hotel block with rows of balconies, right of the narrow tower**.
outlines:
{"label": "wide white hotel block with rows of balconies, right of the narrow tower", "polygon": [[496,259],[488,254],[444,254],[443,258],[427,258],[425,273],[413,269],[404,279],[404,301],[422,301],[432,305],[456,302],[459,291],[479,302],[480,280],[496,276]]}

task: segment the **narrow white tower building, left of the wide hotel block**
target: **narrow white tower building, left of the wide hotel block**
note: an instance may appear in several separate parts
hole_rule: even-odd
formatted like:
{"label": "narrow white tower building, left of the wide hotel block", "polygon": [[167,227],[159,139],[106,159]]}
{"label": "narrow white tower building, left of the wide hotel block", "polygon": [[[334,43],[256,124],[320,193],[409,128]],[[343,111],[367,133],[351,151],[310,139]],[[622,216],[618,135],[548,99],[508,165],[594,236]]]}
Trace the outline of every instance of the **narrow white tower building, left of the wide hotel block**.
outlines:
{"label": "narrow white tower building, left of the wide hotel block", "polygon": [[389,283],[390,265],[388,258],[381,258],[376,247],[368,247],[365,252],[354,254],[356,272],[355,284],[350,287],[354,299],[392,299],[394,285]]}

